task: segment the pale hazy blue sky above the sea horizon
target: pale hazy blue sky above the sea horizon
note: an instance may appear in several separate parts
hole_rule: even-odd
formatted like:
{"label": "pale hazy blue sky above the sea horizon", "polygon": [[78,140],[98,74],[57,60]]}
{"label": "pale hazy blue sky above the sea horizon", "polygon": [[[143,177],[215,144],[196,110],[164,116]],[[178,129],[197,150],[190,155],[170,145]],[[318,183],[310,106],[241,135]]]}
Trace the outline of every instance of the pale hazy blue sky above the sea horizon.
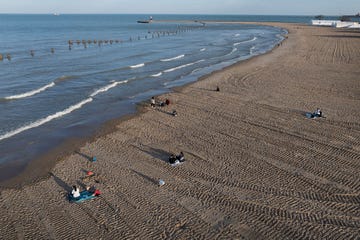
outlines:
{"label": "pale hazy blue sky above the sea horizon", "polygon": [[0,0],[0,13],[346,15],[360,0]]}

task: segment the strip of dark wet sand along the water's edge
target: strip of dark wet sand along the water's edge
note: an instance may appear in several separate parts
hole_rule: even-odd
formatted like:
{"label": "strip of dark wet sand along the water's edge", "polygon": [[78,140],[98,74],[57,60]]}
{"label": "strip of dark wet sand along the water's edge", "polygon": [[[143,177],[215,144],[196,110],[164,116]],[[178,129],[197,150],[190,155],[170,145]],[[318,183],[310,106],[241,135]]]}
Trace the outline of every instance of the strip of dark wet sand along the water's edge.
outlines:
{"label": "strip of dark wet sand along the water's edge", "polygon": [[[158,20],[157,20],[158,21]],[[176,22],[176,20],[174,20]],[[164,21],[158,21],[158,22],[174,22],[171,20],[164,20]],[[192,20],[183,20],[180,22],[194,22]],[[272,23],[266,23],[266,22],[219,22],[219,21],[204,21],[206,23],[222,23],[222,24],[254,24],[254,25],[263,25],[263,26],[272,26],[272,27],[278,27],[273,25]],[[296,24],[295,25],[301,25]],[[281,28],[281,27],[280,27]],[[285,28],[283,28],[285,29]],[[289,31],[288,29],[285,29],[286,31]],[[286,38],[282,41],[286,41]],[[210,77],[213,74],[217,74],[222,71],[226,71],[227,69],[230,69],[232,67],[235,67],[238,64],[246,63],[247,61],[250,61],[251,59],[258,58],[261,56],[264,56],[266,54],[271,53],[279,46],[274,46],[271,50],[264,54],[253,56],[246,60],[241,60],[239,62],[236,62],[230,66],[224,67],[220,70],[215,70],[211,73],[205,74],[204,76],[199,77],[196,81],[187,83],[183,86],[178,86],[171,88],[170,91],[166,94],[172,93],[174,91],[181,91],[182,89],[186,88],[187,86],[190,86],[198,81],[206,80],[208,77]],[[164,94],[162,94],[164,95]],[[156,96],[162,98],[162,95]],[[13,175],[14,171],[17,171],[18,169],[24,169],[21,171],[20,174],[15,175],[11,178],[6,178],[5,180],[0,181],[0,188],[22,188],[26,185],[36,184],[39,181],[42,181],[44,179],[47,179],[50,177],[49,172],[51,172],[51,169],[60,161],[63,161],[64,159],[68,158],[70,155],[74,154],[74,152],[78,151],[80,148],[82,148],[86,143],[94,142],[97,138],[106,136],[107,134],[113,132],[116,130],[116,126],[118,124],[121,124],[121,122],[127,121],[131,118],[137,117],[138,115],[148,111],[145,106],[147,106],[147,101],[142,101],[137,103],[136,110],[132,114],[127,114],[123,117],[116,118],[109,120],[102,124],[94,134],[88,137],[80,137],[80,138],[70,138],[65,141],[63,141],[60,145],[50,149],[47,153],[44,153],[40,156],[38,156],[36,159],[31,160],[28,164],[22,164],[21,166],[11,165],[7,167],[0,168],[1,172],[5,172],[3,169],[8,170],[11,173],[8,173],[10,175]],[[56,156],[56,157],[54,157]],[[54,160],[55,159],[55,160]],[[26,179],[24,181],[24,179]]]}

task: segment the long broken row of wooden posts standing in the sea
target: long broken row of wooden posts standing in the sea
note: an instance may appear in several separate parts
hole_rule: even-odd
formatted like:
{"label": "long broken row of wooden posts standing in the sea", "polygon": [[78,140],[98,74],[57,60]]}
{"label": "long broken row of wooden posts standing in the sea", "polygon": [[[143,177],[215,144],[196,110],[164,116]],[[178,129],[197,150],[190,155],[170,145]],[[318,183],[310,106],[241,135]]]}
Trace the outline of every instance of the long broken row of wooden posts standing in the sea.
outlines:
{"label": "long broken row of wooden posts standing in the sea", "polygon": [[[199,27],[178,27],[178,29],[176,31],[154,31],[151,35],[152,38],[155,38],[155,37],[161,37],[161,36],[166,36],[166,35],[175,35],[175,34],[178,34],[179,32],[187,32],[187,31],[190,31],[194,28],[199,28]],[[148,32],[149,34],[151,33],[150,31]],[[148,35],[145,35],[145,39],[148,38]],[[140,40],[141,37],[138,36],[137,38],[133,38],[133,37],[130,37],[128,41],[133,41],[133,40]],[[90,44],[97,44],[99,47],[102,45],[102,44],[118,44],[118,43],[122,43],[124,42],[123,40],[68,40],[68,45],[69,45],[69,50],[72,49],[72,46],[74,45],[74,43],[76,43],[77,45],[80,45],[80,44],[83,44],[84,45],[84,48],[87,48],[87,45],[90,45]],[[50,49],[50,52],[52,54],[55,53],[55,48],[51,48]],[[31,57],[34,57],[35,56],[35,51],[34,50],[30,50],[30,56]],[[10,53],[7,53],[7,54],[1,54],[0,53],[0,61],[3,61],[5,59],[7,59],[8,61],[11,61],[11,54]]]}

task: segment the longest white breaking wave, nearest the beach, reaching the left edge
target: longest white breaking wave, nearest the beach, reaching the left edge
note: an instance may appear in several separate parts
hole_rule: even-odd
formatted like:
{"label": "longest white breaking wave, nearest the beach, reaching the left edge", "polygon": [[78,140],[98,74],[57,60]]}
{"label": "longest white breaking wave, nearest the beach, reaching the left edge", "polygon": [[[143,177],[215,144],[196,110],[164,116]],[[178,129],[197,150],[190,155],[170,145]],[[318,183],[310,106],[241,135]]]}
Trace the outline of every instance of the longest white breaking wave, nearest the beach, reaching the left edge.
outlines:
{"label": "longest white breaking wave, nearest the beach, reaching the left edge", "polygon": [[39,119],[39,120],[37,120],[35,122],[29,123],[29,124],[27,124],[27,125],[25,125],[23,127],[20,127],[18,129],[13,130],[13,131],[7,132],[4,135],[0,136],[0,141],[4,140],[6,138],[10,138],[10,137],[12,137],[12,136],[14,136],[16,134],[19,134],[21,132],[24,132],[26,130],[39,127],[39,126],[41,126],[41,125],[43,125],[43,124],[45,124],[47,122],[50,122],[50,121],[52,121],[52,120],[54,120],[56,118],[60,118],[62,116],[65,116],[65,115],[71,113],[72,111],[81,108],[83,105],[85,105],[85,104],[87,104],[87,103],[89,103],[91,101],[93,101],[92,98],[87,98],[87,99],[85,99],[85,100],[83,100],[83,101],[81,101],[81,102],[79,102],[79,103],[77,103],[75,105],[72,105],[72,106],[66,108],[63,111],[54,113],[54,114],[49,115],[49,116],[47,116],[45,118],[42,118],[42,119]]}

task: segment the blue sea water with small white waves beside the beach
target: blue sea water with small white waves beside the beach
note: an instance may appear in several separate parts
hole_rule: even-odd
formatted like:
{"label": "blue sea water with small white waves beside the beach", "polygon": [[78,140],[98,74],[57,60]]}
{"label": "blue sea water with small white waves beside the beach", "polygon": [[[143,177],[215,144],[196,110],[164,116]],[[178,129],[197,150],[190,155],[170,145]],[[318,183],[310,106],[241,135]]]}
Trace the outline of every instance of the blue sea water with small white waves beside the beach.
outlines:
{"label": "blue sea water with small white waves beside the beach", "polygon": [[137,23],[146,18],[0,15],[0,169],[25,166],[67,139],[91,136],[151,96],[271,50],[286,33],[203,20],[310,20],[155,15],[153,23]]}

